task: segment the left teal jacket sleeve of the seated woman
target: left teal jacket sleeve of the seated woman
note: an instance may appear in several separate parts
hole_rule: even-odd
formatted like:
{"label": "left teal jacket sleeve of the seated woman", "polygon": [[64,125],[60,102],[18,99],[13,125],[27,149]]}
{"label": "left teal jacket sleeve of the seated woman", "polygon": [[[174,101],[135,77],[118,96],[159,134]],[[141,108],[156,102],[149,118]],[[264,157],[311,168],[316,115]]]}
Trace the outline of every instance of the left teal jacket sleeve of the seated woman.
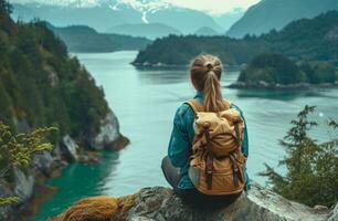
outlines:
{"label": "left teal jacket sleeve of the seated woman", "polygon": [[186,167],[189,164],[190,156],[190,139],[189,139],[189,123],[187,115],[189,114],[189,108],[186,104],[181,105],[173,117],[173,127],[169,140],[168,156],[171,164],[175,167]]}

